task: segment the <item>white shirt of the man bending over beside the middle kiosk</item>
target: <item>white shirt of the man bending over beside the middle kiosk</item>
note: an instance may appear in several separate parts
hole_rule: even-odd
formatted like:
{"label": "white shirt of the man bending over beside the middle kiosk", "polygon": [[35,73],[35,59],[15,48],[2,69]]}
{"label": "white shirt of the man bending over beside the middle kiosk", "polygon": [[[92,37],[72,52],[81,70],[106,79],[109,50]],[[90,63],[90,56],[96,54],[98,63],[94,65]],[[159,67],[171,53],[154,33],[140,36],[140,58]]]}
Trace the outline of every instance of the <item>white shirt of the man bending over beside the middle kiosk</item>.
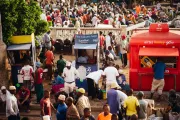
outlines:
{"label": "white shirt of the man bending over beside the middle kiosk", "polygon": [[95,72],[89,73],[86,78],[93,79],[96,84],[98,84],[99,79],[101,78],[101,75],[103,74],[102,70],[98,70]]}

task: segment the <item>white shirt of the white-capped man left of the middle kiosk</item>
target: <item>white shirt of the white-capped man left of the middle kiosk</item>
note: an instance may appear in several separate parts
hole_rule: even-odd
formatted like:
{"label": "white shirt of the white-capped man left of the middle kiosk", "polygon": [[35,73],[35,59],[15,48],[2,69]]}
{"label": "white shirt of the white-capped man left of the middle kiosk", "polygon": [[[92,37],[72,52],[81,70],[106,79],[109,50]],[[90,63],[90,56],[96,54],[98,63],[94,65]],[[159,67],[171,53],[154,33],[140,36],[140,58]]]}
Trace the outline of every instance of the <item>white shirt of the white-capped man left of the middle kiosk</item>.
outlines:
{"label": "white shirt of the white-capped man left of the middle kiosk", "polygon": [[78,71],[76,68],[72,67],[70,69],[67,69],[67,67],[64,68],[62,76],[64,77],[65,82],[73,82],[75,81],[75,76],[79,76]]}

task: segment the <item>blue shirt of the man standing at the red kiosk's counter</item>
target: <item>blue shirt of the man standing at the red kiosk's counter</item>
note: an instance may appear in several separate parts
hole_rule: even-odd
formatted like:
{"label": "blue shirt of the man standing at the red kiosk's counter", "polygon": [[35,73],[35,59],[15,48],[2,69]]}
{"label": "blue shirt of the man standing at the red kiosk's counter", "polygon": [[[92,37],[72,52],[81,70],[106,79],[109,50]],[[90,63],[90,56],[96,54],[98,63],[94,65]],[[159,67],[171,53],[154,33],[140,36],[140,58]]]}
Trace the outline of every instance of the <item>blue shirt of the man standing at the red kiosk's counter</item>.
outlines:
{"label": "blue shirt of the man standing at the red kiosk's counter", "polygon": [[166,65],[163,62],[156,62],[154,65],[154,78],[156,80],[164,79]]}

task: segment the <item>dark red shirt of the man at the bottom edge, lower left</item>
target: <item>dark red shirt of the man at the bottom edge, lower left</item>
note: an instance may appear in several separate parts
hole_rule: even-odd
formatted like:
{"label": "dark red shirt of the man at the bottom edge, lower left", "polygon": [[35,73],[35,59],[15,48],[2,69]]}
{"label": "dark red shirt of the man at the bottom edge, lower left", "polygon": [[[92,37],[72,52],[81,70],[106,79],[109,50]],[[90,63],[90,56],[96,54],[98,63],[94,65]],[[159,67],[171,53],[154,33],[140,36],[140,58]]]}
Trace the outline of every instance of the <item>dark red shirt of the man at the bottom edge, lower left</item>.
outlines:
{"label": "dark red shirt of the man at the bottom edge, lower left", "polygon": [[51,102],[49,98],[42,98],[40,101],[41,109],[44,109],[44,114],[51,116]]}

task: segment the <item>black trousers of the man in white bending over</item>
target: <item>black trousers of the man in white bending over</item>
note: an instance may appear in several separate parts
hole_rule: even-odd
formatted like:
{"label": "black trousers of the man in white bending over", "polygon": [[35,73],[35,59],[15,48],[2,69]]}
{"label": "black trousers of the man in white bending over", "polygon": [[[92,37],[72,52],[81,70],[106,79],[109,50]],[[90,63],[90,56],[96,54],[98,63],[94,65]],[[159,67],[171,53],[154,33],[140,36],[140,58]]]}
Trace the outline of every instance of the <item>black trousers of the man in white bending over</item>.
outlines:
{"label": "black trousers of the man in white bending over", "polygon": [[97,87],[94,80],[91,78],[87,78],[87,84],[88,84],[88,96],[92,96],[92,99],[96,98]]}

